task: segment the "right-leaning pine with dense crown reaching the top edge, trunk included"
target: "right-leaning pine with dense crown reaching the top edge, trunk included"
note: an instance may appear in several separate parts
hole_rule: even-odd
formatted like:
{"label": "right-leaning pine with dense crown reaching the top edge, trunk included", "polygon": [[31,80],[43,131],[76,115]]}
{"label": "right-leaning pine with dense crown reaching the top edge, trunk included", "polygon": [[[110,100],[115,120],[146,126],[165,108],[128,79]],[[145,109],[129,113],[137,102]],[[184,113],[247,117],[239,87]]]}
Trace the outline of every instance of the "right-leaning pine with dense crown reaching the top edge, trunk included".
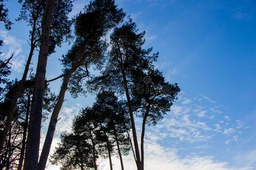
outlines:
{"label": "right-leaning pine with dense crown reaching the top edge, trunk included", "polygon": [[85,7],[84,13],[80,12],[77,15],[75,23],[76,41],[61,59],[64,66],[63,83],[49,122],[39,160],[39,169],[46,167],[57,118],[68,86],[72,94],[76,94],[80,90],[82,79],[90,76],[89,68],[102,65],[106,49],[106,42],[102,38],[111,28],[122,21],[124,15],[122,9],[118,9],[113,0],[92,1]]}

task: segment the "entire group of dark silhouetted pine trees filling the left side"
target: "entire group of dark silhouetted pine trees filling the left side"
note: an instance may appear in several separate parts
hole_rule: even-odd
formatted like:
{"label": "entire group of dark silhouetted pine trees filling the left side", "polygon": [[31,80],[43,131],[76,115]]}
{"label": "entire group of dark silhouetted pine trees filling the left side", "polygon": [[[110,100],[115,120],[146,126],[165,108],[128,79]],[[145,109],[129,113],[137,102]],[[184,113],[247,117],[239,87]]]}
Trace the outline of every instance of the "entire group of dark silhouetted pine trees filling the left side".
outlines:
{"label": "entire group of dark silhouetted pine trees filling the left side", "polygon": [[[0,2],[0,22],[10,30],[15,25],[5,1]],[[30,52],[21,79],[10,79],[13,56],[0,60],[0,169],[43,170],[51,163],[61,169],[96,170],[100,160],[108,159],[112,170],[117,156],[123,170],[123,156],[131,153],[143,170],[146,126],[162,120],[177,100],[180,88],[154,66],[159,54],[144,48],[145,32],[114,0],[90,1],[70,18],[73,2],[18,0],[16,21],[30,29]],[[63,73],[46,79],[48,57],[67,42],[70,49],[60,56]],[[35,70],[33,57],[38,57]],[[96,70],[99,74],[93,75]],[[62,79],[59,94],[49,88],[57,79]],[[96,100],[74,113],[72,130],[63,131],[49,156],[67,91],[73,97],[94,94]]]}

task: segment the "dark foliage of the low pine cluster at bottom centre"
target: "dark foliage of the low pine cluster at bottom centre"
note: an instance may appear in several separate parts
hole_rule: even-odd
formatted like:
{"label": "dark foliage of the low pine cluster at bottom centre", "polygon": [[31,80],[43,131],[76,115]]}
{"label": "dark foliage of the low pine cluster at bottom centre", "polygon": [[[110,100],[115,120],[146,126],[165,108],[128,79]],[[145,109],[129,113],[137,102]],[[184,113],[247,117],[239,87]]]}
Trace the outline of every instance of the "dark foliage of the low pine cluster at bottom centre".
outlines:
{"label": "dark foliage of the low pine cluster at bottom centre", "polygon": [[51,162],[61,164],[63,169],[97,169],[97,159],[101,156],[109,158],[112,169],[112,155],[122,159],[122,155],[130,151],[129,127],[122,102],[113,92],[102,92],[92,107],[80,111],[73,122],[72,133],[61,134],[61,143]]}

